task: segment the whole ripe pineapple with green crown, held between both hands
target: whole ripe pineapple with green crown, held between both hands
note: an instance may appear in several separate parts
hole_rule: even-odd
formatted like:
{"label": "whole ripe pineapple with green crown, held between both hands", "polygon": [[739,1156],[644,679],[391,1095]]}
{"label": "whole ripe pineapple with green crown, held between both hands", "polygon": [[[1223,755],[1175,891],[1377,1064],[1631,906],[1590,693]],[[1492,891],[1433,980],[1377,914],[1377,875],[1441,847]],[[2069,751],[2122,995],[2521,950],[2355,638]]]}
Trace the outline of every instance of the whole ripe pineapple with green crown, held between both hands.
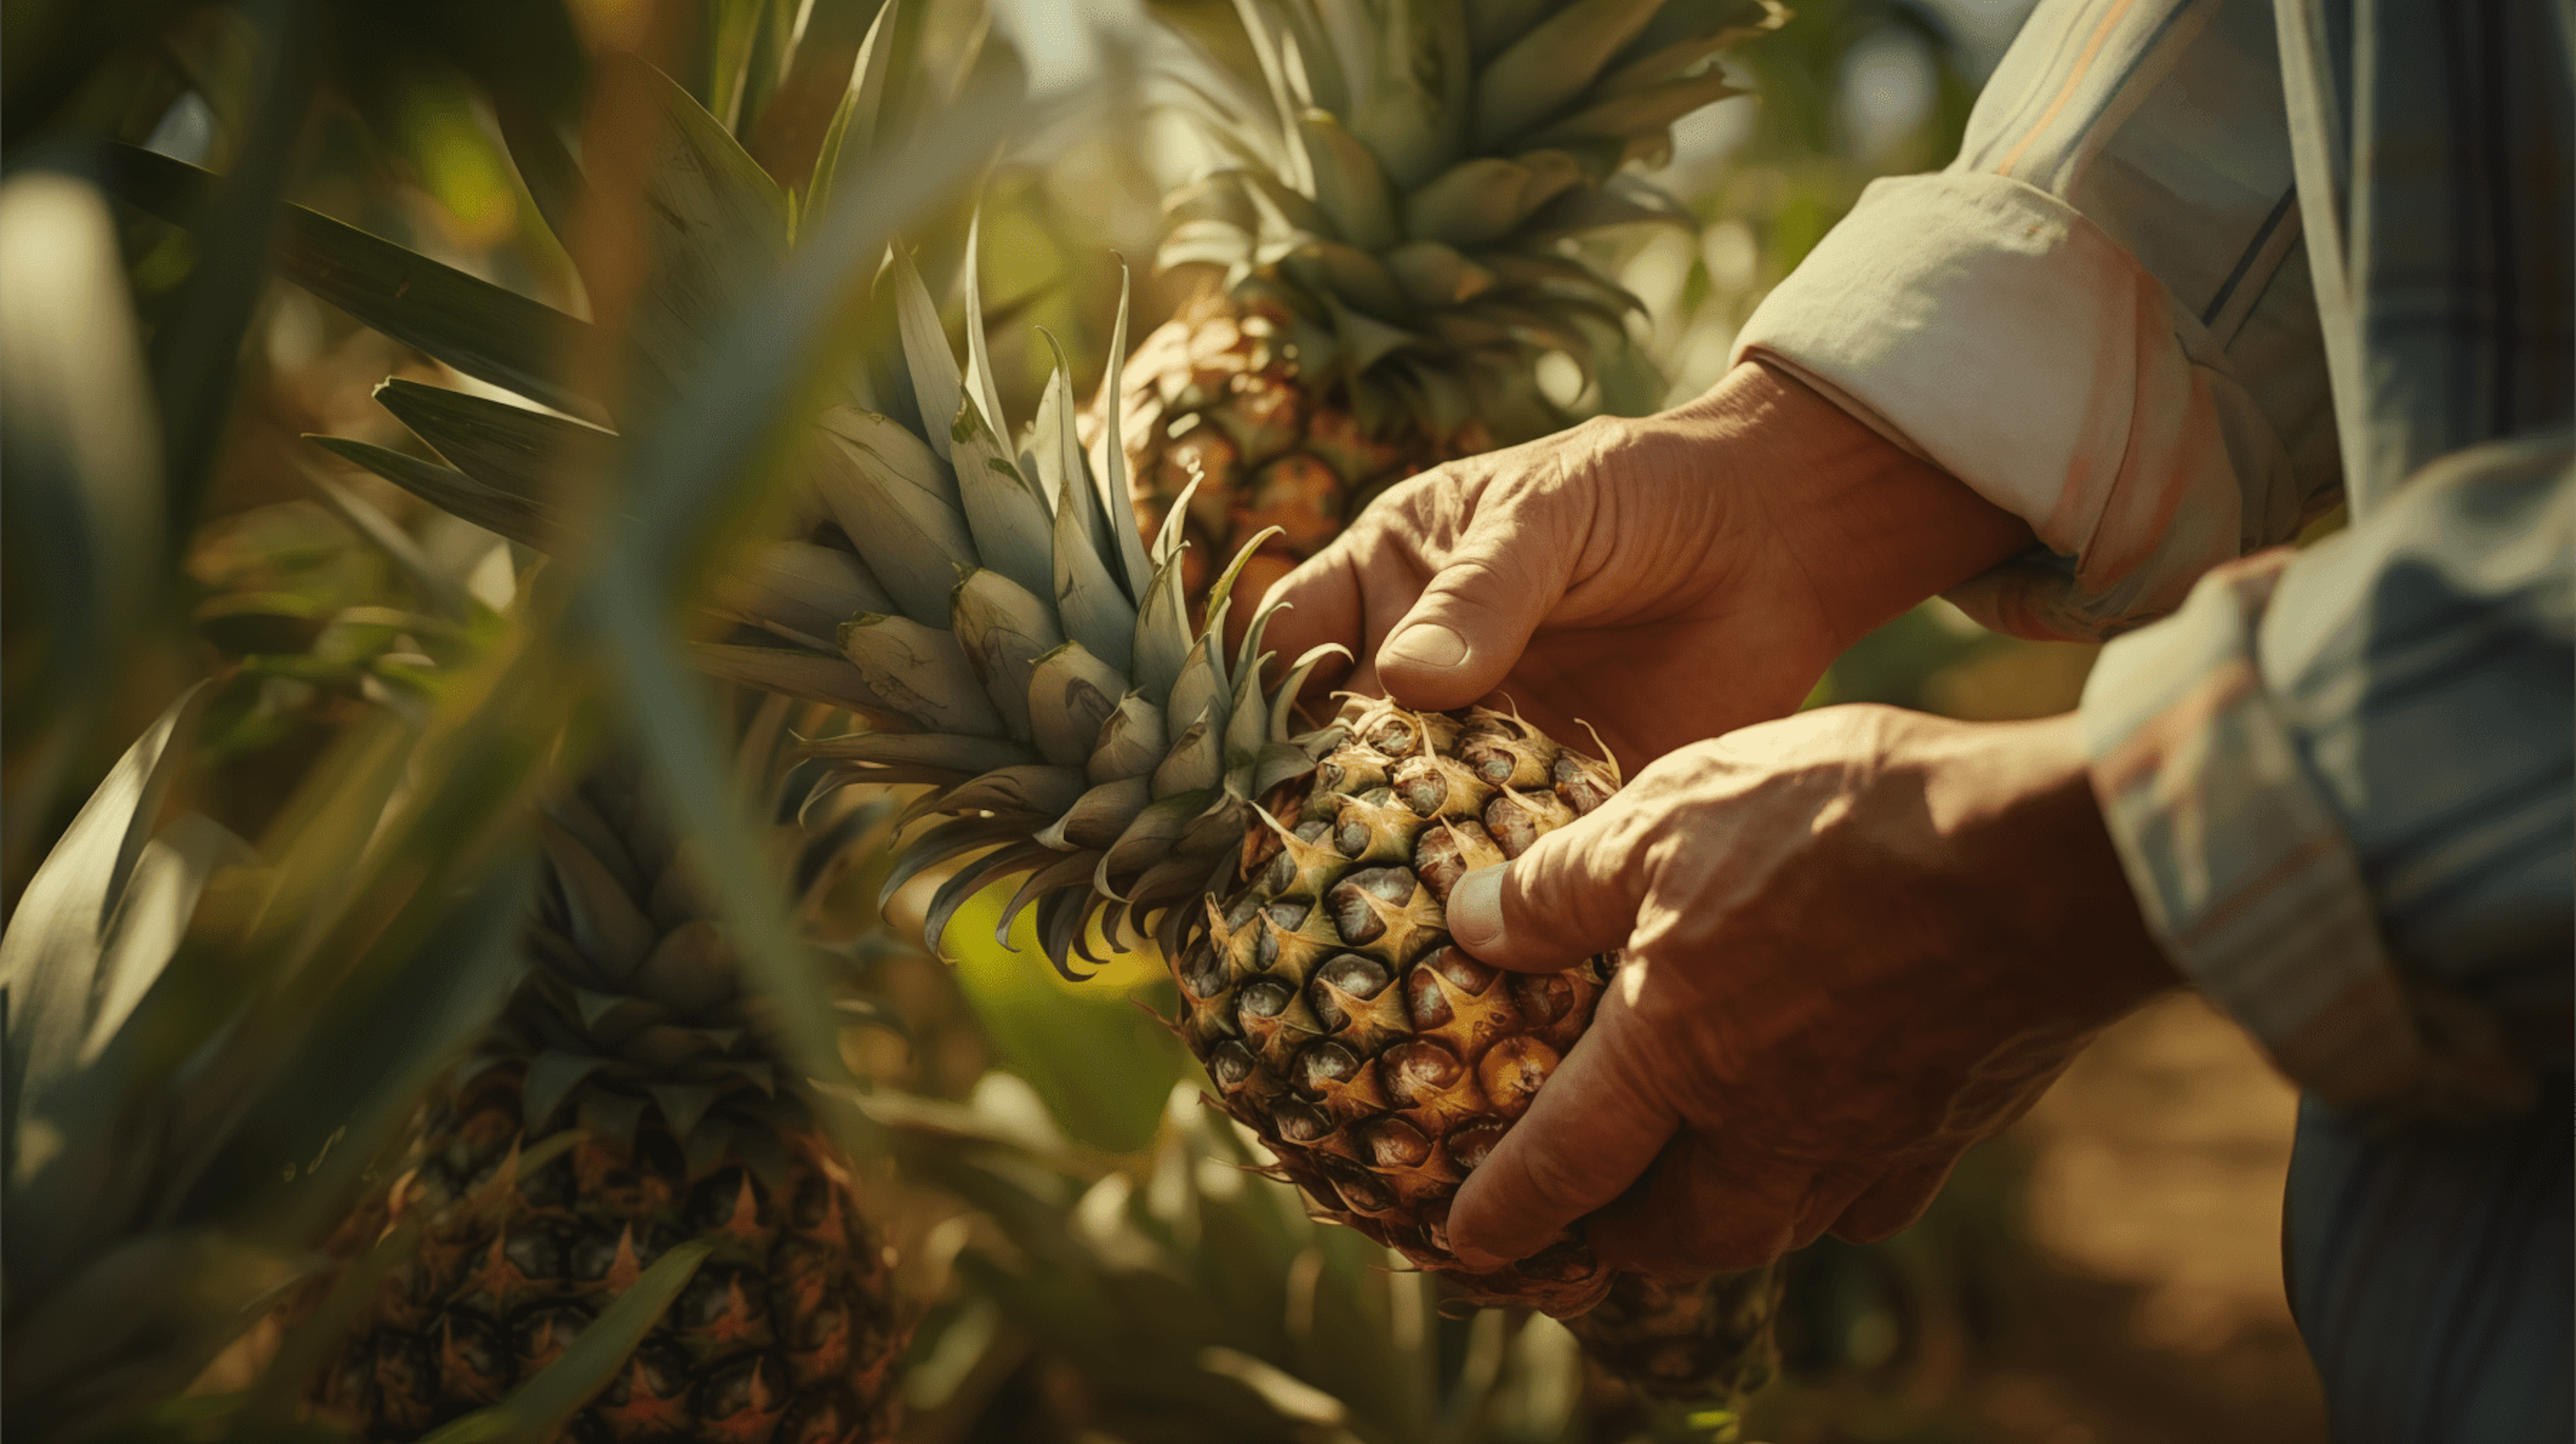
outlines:
{"label": "whole ripe pineapple with green crown, held between both hands", "polygon": [[[927,786],[912,817],[951,817],[899,843],[886,882],[945,869],[933,946],[1005,879],[1002,926],[1036,908],[1059,970],[1095,957],[1095,926],[1151,931],[1182,993],[1177,1031],[1321,1215],[1476,1302],[1600,1302],[1610,1274],[1582,1238],[1468,1274],[1443,1220],[1582,1037],[1613,962],[1499,975],[1450,946],[1443,903],[1468,869],[1600,807],[1615,766],[1489,709],[1355,701],[1301,730],[1293,699],[1324,650],[1265,688],[1267,614],[1239,647],[1224,639],[1267,536],[1236,552],[1193,627],[1182,511],[1151,549],[1123,523],[1115,428],[1082,451],[1059,369],[1023,444],[1002,446],[981,358],[961,374],[909,266],[896,281],[914,392],[956,420],[914,436],[855,407],[824,415],[806,505],[832,521],[793,544],[814,580],[755,560],[768,580],[726,596],[773,642],[701,658],[886,719],[806,756],[832,763],[822,792]],[[1113,374],[1103,415],[1115,392]],[[832,652],[793,642],[853,606]]]}

